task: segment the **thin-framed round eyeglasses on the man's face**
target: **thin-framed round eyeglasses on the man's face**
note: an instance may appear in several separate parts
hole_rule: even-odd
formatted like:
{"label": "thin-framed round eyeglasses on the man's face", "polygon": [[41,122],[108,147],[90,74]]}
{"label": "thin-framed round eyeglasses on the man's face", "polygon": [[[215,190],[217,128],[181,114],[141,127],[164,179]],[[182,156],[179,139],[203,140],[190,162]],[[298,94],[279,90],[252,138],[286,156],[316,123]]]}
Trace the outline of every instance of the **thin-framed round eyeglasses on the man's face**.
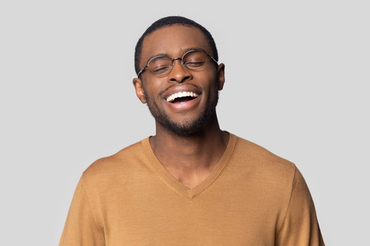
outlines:
{"label": "thin-framed round eyeglasses on the man's face", "polygon": [[208,57],[218,64],[216,59],[208,55],[205,51],[192,50],[186,52],[182,57],[171,59],[167,55],[157,55],[149,59],[147,66],[141,68],[138,72],[138,77],[146,68],[158,76],[165,76],[169,74],[173,68],[173,61],[181,59],[181,64],[190,70],[199,70],[206,66]]}

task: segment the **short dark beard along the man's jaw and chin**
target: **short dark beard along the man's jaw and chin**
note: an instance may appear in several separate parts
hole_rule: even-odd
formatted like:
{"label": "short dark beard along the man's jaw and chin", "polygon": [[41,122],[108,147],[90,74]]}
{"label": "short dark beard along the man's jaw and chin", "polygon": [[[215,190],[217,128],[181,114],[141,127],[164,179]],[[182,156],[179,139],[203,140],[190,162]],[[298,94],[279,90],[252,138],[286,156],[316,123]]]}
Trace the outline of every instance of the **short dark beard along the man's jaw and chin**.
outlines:
{"label": "short dark beard along the man's jaw and chin", "polygon": [[199,113],[198,117],[193,120],[184,120],[182,122],[174,122],[169,118],[169,115],[158,107],[156,102],[148,96],[143,87],[145,98],[147,99],[147,105],[151,115],[153,115],[156,122],[161,124],[164,128],[179,135],[181,137],[193,137],[199,135],[201,131],[207,126],[213,118],[216,118],[216,106],[219,101],[219,90],[217,83],[213,88],[214,92],[212,96],[208,98],[208,103],[206,109]]}

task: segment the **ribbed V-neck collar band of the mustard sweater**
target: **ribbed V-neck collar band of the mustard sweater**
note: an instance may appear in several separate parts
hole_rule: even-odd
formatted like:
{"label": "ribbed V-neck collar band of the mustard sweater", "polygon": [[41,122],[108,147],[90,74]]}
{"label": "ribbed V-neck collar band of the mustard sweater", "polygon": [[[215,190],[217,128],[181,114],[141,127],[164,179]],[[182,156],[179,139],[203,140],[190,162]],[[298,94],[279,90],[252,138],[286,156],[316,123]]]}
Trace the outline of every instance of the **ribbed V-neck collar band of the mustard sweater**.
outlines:
{"label": "ribbed V-neck collar band of the mustard sweater", "polygon": [[234,152],[237,140],[236,135],[233,135],[231,133],[229,133],[229,135],[229,142],[227,143],[226,150],[223,153],[223,156],[221,156],[219,163],[217,163],[208,177],[193,189],[190,189],[182,184],[179,180],[172,176],[169,171],[167,171],[167,169],[162,165],[162,163],[160,163],[160,161],[158,161],[156,155],[153,152],[153,149],[150,146],[149,137],[143,139],[141,143],[151,165],[153,165],[154,169],[156,169],[156,171],[158,172],[158,176],[177,193],[186,195],[188,198],[193,199],[193,197],[195,197],[197,194],[201,193],[201,191],[204,191],[204,189],[210,186],[210,184],[212,184],[214,180],[217,180],[217,177],[221,174],[221,172],[223,172],[224,167],[229,162],[232,153]]}

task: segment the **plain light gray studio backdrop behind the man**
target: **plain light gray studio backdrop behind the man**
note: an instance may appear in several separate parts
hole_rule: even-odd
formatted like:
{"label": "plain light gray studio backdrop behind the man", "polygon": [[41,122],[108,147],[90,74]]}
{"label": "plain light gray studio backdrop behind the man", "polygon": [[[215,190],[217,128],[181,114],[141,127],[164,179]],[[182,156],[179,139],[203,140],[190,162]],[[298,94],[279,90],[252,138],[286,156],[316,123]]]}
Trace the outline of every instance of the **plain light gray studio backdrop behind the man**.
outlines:
{"label": "plain light gray studio backdrop behind the man", "polygon": [[58,245],[93,161],[155,133],[134,94],[153,21],[204,25],[221,128],[296,163],[326,245],[369,245],[367,1],[1,1],[0,245]]}

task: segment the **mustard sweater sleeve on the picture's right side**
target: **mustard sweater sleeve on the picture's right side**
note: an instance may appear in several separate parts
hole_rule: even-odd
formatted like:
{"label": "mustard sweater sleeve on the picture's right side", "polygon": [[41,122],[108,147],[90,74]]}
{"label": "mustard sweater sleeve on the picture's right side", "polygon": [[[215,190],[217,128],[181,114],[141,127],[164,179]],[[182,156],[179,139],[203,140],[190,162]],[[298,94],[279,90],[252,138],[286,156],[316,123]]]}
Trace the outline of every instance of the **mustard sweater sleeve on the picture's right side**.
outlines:
{"label": "mustard sweater sleeve on the picture's right side", "polygon": [[323,246],[314,203],[307,184],[295,169],[291,199],[280,231],[277,233],[277,246]]}

